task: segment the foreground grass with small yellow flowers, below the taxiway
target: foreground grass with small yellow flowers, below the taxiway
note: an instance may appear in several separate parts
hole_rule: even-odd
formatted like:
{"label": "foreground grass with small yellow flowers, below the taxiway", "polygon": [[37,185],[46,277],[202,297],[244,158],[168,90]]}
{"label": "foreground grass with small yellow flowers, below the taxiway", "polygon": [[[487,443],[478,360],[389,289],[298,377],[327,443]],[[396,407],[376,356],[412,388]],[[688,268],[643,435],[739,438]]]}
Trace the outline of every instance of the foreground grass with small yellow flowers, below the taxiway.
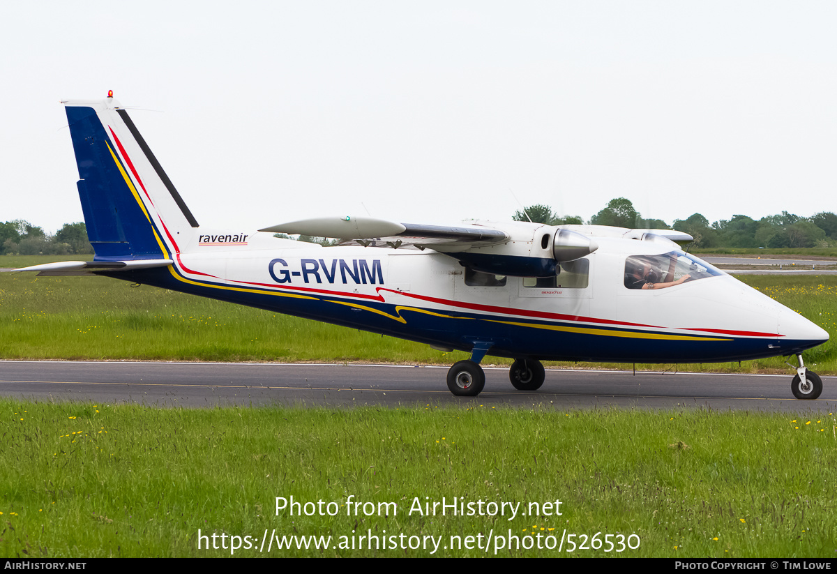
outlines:
{"label": "foreground grass with small yellow flowers, below the taxiway", "polygon": [[[0,556],[837,551],[834,413],[161,410],[9,400],[0,413]],[[277,513],[276,498],[291,496],[301,503],[295,515],[290,505]],[[463,509],[473,514],[424,511],[443,497],[473,503]],[[198,530],[208,536],[200,549]],[[378,539],[383,548],[367,548],[360,536],[370,533],[388,537]],[[207,549],[212,534],[217,549]],[[241,537],[236,551],[229,536]],[[316,549],[310,536],[331,541]],[[295,547],[306,540],[311,548]],[[279,541],[292,547],[280,550]]]}

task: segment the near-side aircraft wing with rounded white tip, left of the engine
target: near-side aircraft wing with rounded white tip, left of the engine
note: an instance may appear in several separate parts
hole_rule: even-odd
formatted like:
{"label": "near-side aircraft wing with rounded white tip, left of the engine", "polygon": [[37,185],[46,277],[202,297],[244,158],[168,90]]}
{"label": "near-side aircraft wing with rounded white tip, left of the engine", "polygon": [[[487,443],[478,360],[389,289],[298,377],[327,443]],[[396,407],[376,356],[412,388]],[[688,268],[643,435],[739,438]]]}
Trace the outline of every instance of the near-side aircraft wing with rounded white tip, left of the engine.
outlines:
{"label": "near-side aircraft wing with rounded white tip, left of the engine", "polygon": [[259,229],[270,233],[302,233],[314,237],[333,237],[357,241],[362,245],[386,244],[429,247],[454,252],[474,246],[493,245],[509,240],[505,231],[482,225],[462,224],[456,227],[395,223],[376,218],[316,218],[280,223]]}

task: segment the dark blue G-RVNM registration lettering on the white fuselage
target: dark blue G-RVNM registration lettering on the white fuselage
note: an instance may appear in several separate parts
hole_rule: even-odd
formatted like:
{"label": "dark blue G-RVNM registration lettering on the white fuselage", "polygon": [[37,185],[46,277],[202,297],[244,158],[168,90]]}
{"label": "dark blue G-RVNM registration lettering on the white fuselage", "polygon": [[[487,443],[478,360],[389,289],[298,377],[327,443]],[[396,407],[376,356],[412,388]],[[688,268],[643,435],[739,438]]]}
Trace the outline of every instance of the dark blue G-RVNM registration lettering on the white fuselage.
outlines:
{"label": "dark blue G-RVNM registration lettering on the white fuselage", "polygon": [[[268,264],[276,283],[382,284],[380,259],[273,259]],[[298,279],[297,279],[298,278]]]}

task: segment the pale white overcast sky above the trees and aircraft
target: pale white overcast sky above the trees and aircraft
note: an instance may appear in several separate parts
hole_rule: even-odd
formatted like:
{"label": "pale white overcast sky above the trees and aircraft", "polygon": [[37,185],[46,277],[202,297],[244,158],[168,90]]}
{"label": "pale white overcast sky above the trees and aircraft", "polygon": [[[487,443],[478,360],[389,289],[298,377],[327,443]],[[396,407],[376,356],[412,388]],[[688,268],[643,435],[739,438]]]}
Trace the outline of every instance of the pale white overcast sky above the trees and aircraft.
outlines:
{"label": "pale white overcast sky above the trees and aircraft", "polygon": [[59,100],[107,90],[202,225],[837,211],[835,27],[833,2],[5,2],[0,221],[82,219]]}

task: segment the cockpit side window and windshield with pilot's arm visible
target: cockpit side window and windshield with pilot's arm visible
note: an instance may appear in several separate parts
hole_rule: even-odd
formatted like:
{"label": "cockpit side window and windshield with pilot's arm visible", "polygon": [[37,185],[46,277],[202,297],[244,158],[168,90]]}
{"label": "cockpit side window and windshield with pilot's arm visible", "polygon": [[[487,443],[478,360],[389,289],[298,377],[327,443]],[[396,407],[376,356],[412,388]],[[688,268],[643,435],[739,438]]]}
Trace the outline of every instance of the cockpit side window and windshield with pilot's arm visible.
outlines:
{"label": "cockpit side window and windshield with pilot's arm visible", "polygon": [[679,250],[662,255],[631,255],[625,260],[628,289],[664,289],[721,274],[720,269]]}

